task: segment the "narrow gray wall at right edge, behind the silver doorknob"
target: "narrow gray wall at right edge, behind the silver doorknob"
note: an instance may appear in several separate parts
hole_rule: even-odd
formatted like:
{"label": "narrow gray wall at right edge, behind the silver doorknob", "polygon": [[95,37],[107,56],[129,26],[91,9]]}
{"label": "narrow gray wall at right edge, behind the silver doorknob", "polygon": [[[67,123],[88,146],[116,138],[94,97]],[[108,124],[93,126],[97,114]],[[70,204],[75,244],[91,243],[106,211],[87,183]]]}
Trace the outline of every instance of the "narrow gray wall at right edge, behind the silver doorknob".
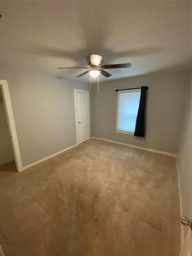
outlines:
{"label": "narrow gray wall at right edge, behind the silver doorknob", "polygon": [[[187,90],[188,97],[186,97],[186,108],[184,111],[183,127],[179,141],[179,148],[177,152],[177,163],[179,170],[179,180],[182,200],[182,214],[191,219],[192,217],[192,130],[191,130],[191,82]],[[180,154],[180,157],[179,157]],[[183,227],[184,239],[187,235],[189,227]]]}

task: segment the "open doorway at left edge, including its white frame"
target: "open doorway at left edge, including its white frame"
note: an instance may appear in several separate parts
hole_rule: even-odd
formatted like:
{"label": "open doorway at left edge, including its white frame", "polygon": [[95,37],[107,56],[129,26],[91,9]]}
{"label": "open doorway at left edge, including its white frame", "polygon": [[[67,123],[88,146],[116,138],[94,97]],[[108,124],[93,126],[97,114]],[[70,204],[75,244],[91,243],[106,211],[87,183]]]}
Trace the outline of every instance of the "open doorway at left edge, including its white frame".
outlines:
{"label": "open doorway at left edge, including its white frame", "polygon": [[0,80],[0,171],[22,171],[13,111],[6,80]]}

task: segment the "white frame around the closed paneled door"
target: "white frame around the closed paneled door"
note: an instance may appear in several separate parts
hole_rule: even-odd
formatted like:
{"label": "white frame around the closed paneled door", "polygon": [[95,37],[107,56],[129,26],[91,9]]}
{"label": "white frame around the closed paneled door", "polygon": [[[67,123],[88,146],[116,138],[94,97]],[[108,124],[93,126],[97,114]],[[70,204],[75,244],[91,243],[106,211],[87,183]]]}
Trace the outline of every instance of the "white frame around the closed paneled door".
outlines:
{"label": "white frame around the closed paneled door", "polygon": [[79,145],[79,127],[78,127],[78,110],[77,110],[77,92],[87,94],[87,113],[88,113],[88,140],[90,140],[90,113],[89,113],[89,91],[74,89],[75,101],[75,126],[76,126],[76,144]]}

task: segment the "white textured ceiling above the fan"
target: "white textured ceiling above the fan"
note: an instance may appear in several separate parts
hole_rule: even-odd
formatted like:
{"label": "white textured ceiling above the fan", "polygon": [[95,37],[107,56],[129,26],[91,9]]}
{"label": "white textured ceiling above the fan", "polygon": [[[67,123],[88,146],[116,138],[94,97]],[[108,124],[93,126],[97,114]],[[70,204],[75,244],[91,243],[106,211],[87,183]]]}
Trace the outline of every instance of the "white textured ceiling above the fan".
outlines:
{"label": "white textured ceiling above the fan", "polygon": [[191,67],[191,1],[1,1],[1,65],[75,78],[89,54],[118,79]]}

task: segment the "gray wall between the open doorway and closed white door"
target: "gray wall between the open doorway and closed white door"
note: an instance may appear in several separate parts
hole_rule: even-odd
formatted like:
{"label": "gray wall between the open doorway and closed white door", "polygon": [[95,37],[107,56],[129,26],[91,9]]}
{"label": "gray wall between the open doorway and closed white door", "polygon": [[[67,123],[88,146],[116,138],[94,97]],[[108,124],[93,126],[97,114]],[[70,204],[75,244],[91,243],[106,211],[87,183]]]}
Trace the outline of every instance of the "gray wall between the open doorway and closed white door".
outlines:
{"label": "gray wall between the open doorway and closed white door", "polygon": [[7,80],[23,167],[76,144],[73,89],[88,83],[1,67]]}

